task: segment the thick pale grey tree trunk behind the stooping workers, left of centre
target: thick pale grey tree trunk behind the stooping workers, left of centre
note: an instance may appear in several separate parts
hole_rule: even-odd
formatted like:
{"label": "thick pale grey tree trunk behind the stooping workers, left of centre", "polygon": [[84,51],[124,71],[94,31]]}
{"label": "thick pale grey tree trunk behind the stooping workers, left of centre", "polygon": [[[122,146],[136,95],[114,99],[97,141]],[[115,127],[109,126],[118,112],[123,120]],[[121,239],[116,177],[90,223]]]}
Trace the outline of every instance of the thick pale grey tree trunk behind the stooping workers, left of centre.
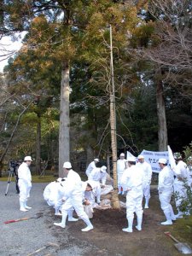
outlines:
{"label": "thick pale grey tree trunk behind the stooping workers, left of centre", "polygon": [[65,63],[61,71],[61,105],[59,131],[59,177],[63,177],[63,163],[70,160],[69,154],[69,65]]}

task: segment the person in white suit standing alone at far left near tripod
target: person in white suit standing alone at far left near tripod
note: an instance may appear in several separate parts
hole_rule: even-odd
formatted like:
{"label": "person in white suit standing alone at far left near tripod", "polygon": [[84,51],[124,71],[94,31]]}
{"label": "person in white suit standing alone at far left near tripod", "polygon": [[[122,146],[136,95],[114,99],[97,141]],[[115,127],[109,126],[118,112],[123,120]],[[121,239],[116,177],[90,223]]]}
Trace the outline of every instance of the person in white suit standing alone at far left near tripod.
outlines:
{"label": "person in white suit standing alone at far left near tripod", "polygon": [[18,168],[18,186],[20,189],[20,211],[27,212],[32,207],[26,206],[27,198],[30,196],[30,190],[32,189],[32,174],[29,166],[32,164],[32,157],[26,156],[24,161]]}

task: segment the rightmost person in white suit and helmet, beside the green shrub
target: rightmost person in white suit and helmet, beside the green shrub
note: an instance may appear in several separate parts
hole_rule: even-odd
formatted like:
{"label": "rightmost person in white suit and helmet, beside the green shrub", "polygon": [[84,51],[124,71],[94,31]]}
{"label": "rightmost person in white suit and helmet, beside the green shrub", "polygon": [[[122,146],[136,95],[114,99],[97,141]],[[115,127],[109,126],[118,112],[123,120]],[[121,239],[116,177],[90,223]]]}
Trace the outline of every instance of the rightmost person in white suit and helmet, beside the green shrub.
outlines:
{"label": "rightmost person in white suit and helmet, beside the green shrub", "polygon": [[181,202],[184,198],[186,198],[186,188],[184,187],[183,181],[188,179],[189,172],[186,163],[182,160],[182,155],[180,153],[173,154],[174,159],[176,160],[176,167],[172,168],[172,171],[174,172],[174,183],[173,183],[173,189],[174,193],[177,195],[175,196],[175,203],[177,207],[177,215],[175,215],[176,218],[183,218],[183,213],[179,209]]}

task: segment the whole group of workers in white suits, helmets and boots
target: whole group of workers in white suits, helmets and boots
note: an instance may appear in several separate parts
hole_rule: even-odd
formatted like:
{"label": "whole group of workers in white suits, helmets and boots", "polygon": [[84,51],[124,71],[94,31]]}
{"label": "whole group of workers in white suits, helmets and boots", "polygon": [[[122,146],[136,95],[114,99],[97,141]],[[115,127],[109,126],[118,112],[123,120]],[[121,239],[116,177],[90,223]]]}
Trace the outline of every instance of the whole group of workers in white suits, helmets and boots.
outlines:
{"label": "whole group of workers in white suits, helmets and boots", "polygon": [[[166,216],[166,221],[161,224],[170,225],[172,220],[183,218],[180,206],[186,198],[186,188],[183,183],[192,186],[191,170],[192,157],[189,157],[187,166],[179,153],[174,154],[176,166],[172,169],[167,166],[166,159],[159,159],[160,166],[158,191],[160,207]],[[55,215],[61,215],[61,223],[54,223],[61,228],[66,227],[66,221],[78,221],[81,218],[86,227],[82,231],[86,232],[93,229],[90,218],[84,212],[84,205],[90,205],[93,212],[94,204],[101,202],[101,189],[105,187],[107,180],[107,167],[97,167],[99,160],[94,159],[86,169],[87,181],[83,182],[77,172],[74,172],[70,162],[63,164],[64,178],[59,177],[55,182],[49,183],[44,189],[44,200],[49,206],[55,208]],[[29,166],[32,163],[31,156],[26,156],[24,162],[18,169],[19,188],[20,188],[20,211],[26,212],[31,207],[26,206],[27,198],[32,188],[32,176]],[[143,155],[137,158],[130,156],[125,160],[125,154],[119,155],[117,160],[117,177],[119,194],[126,193],[126,218],[128,226],[123,229],[125,232],[132,232],[134,212],[137,215],[137,230],[142,230],[143,223],[143,198],[144,208],[148,208],[150,198],[150,183],[152,178],[152,168],[145,161]],[[175,196],[177,215],[174,214],[171,198],[173,191]],[[73,218],[75,211],[79,218]],[[189,212],[184,212],[188,214]]]}

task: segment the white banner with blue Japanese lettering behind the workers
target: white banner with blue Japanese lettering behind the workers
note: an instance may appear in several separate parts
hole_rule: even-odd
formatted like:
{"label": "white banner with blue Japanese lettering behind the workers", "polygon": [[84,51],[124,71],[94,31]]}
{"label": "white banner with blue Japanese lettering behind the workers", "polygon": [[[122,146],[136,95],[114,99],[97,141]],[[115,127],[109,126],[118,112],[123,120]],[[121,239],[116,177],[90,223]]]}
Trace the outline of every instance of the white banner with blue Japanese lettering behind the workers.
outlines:
{"label": "white banner with blue Japanese lettering behind the workers", "polygon": [[151,165],[152,167],[152,171],[153,172],[160,172],[160,165],[158,164],[158,160],[160,158],[165,158],[167,160],[167,165],[169,165],[169,154],[168,151],[148,151],[148,150],[144,150],[141,153],[146,162],[148,162],[148,164]]}

